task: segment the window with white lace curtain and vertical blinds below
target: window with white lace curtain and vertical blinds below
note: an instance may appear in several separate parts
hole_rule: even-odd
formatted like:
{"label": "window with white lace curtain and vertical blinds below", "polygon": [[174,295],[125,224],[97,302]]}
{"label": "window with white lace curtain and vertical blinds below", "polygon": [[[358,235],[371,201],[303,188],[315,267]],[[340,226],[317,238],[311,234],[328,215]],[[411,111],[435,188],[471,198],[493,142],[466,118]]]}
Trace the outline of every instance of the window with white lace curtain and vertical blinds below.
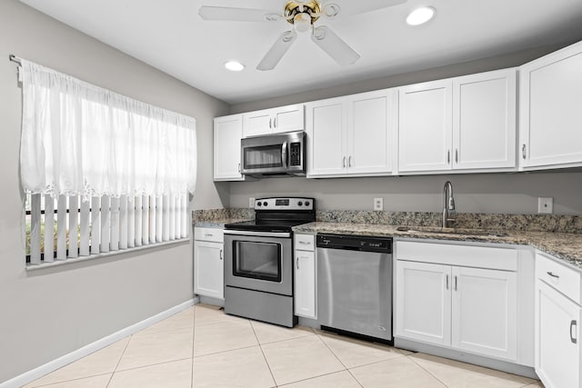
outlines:
{"label": "window with white lace curtain and vertical blinds below", "polygon": [[196,121],[22,61],[27,263],[186,238]]}

